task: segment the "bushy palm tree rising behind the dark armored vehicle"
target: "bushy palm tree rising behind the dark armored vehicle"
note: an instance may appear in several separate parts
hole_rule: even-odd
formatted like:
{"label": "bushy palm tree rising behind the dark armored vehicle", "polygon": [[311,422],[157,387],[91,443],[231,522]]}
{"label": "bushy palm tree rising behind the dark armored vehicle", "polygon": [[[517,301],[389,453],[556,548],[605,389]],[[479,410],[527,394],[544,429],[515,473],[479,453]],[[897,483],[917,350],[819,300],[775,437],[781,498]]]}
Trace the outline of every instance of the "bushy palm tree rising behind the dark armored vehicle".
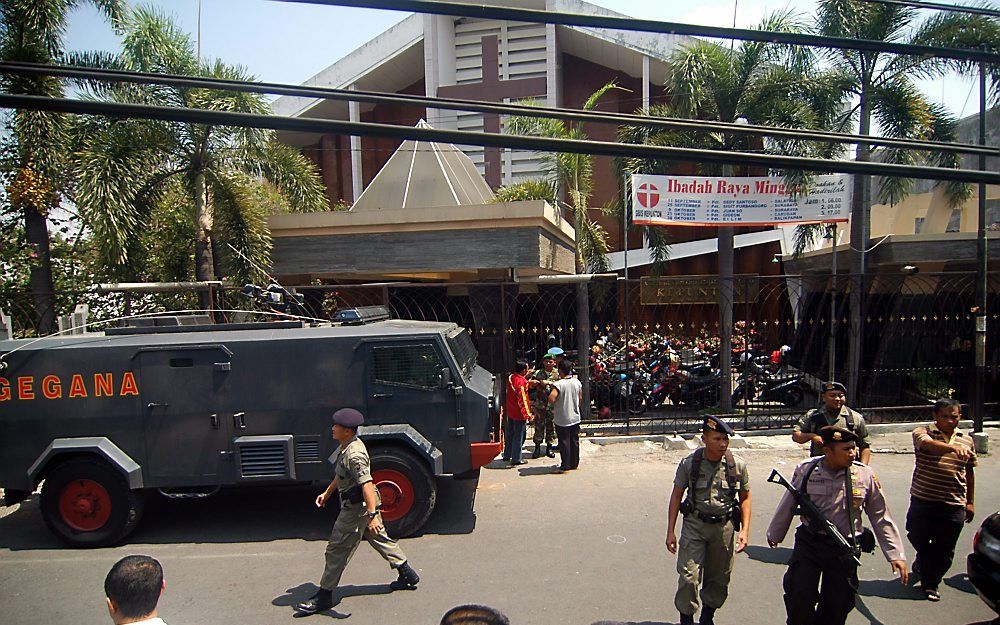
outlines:
{"label": "bushy palm tree rising behind the dark armored vehicle", "polygon": [[[95,64],[253,80],[241,67],[199,59],[190,37],[155,10],[134,9],[122,30],[121,54]],[[88,91],[119,102],[268,112],[259,94],[151,84],[89,84]],[[87,117],[76,129],[73,161],[74,200],[112,266],[136,261],[141,234],[165,198],[179,196],[186,205],[199,281],[223,273],[240,281],[261,278],[270,266],[267,215],[327,207],[313,165],[267,130]]]}

